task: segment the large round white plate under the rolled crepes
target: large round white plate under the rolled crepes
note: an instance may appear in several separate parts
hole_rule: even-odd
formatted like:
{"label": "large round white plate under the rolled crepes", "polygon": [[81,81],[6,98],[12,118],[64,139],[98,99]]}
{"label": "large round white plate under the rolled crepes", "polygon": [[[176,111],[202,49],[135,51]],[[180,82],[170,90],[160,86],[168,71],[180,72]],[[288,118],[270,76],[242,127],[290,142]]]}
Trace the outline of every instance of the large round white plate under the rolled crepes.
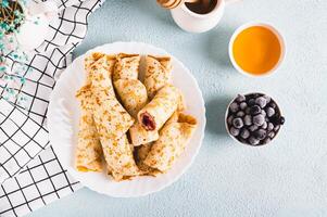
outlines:
{"label": "large round white plate under the rolled crepes", "polygon": [[75,93],[84,85],[84,59],[91,52],[104,53],[140,53],[153,55],[171,55],[166,51],[141,42],[115,42],[88,51],[77,58],[61,75],[51,94],[48,111],[48,128],[51,144],[60,162],[70,174],[85,187],[111,196],[141,196],[164,189],[176,181],[191,165],[201,146],[204,127],[205,108],[201,90],[183,63],[172,56],[173,84],[185,94],[187,113],[197,117],[199,127],[183,155],[173,168],[158,177],[137,177],[133,180],[115,182],[103,173],[79,173],[74,168],[74,149],[77,143],[79,105]]}

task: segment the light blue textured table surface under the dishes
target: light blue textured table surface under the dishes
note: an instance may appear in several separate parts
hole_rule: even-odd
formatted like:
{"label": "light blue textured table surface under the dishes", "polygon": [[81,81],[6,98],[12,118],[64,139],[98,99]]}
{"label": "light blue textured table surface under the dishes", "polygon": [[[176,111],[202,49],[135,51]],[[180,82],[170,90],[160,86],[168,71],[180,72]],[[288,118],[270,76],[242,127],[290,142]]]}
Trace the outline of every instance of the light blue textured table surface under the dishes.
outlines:
{"label": "light blue textured table surface under the dishes", "polygon": [[[272,77],[238,74],[228,61],[232,31],[250,21],[276,25],[287,58]],[[327,1],[243,0],[205,34],[179,29],[154,0],[106,0],[91,15],[87,50],[113,41],[164,48],[198,79],[206,106],[205,138],[190,169],[159,193],[113,199],[83,189],[29,217],[327,216]],[[224,128],[228,101],[262,91],[280,104],[286,126],[271,145],[235,143]]]}

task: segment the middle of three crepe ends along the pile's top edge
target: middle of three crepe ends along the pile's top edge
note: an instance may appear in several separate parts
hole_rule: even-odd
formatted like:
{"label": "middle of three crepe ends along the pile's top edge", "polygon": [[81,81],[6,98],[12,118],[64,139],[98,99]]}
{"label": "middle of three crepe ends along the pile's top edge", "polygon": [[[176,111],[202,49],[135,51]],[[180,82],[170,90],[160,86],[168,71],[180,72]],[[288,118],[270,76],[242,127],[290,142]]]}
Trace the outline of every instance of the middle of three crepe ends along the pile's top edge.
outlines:
{"label": "middle of three crepe ends along the pile's top edge", "polygon": [[139,54],[117,54],[117,62],[114,68],[113,80],[138,79],[140,59],[141,58]]}

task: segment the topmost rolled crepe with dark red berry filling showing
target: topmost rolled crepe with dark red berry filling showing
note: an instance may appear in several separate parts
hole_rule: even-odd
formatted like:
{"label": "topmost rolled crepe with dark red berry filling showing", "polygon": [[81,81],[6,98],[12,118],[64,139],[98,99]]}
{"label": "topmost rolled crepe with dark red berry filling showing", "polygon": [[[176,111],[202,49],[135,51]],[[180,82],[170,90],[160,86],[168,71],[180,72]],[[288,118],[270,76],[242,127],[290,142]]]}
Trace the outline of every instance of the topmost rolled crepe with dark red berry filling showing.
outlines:
{"label": "topmost rolled crepe with dark red berry filling showing", "polygon": [[176,110],[184,108],[183,94],[172,85],[163,87],[138,113],[138,122],[146,130],[160,130]]}

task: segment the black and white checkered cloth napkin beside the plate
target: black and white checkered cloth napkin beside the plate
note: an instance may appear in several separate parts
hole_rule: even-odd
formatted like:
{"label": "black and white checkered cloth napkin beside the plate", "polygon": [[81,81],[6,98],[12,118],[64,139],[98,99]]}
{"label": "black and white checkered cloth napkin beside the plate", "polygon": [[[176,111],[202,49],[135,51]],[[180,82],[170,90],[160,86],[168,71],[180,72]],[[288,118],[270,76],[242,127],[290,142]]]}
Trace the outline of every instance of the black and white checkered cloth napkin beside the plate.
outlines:
{"label": "black and white checkered cloth napkin beside the plate", "polygon": [[[55,80],[86,36],[88,16],[102,1],[56,0],[59,21],[50,24],[51,34],[27,64],[26,84],[17,89],[28,99],[27,105],[0,97],[1,217],[23,216],[81,187],[59,162],[45,125]],[[12,68],[15,65],[12,62]],[[0,86],[0,93],[4,91],[5,86]]]}

